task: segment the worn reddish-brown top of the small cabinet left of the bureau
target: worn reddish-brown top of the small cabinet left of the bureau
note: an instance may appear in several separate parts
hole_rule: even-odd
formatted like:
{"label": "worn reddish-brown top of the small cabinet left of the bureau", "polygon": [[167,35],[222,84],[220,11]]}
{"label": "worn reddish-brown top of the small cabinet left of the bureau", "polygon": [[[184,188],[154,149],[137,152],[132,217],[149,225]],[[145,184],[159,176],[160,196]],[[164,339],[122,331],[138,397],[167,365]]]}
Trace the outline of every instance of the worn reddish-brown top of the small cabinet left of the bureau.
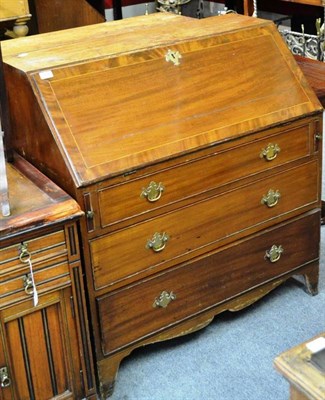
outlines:
{"label": "worn reddish-brown top of the small cabinet left of the bureau", "polygon": [[0,213],[1,239],[82,215],[75,200],[19,156],[6,170],[11,214]]}

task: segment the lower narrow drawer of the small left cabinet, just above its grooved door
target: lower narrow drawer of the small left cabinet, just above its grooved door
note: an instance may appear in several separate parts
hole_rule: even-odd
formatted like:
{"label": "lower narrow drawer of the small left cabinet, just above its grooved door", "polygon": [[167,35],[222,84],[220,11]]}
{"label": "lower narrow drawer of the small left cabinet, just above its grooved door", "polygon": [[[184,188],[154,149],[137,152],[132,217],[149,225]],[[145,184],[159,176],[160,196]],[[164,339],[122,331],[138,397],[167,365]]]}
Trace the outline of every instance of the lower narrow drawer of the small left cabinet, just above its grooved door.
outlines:
{"label": "lower narrow drawer of the small left cabinet, just above its grooved door", "polygon": [[[22,272],[22,271],[21,271]],[[12,279],[0,281],[0,308],[9,304],[33,299],[31,287],[27,288],[26,278],[29,277],[30,270],[26,269],[24,273],[15,276]],[[71,284],[70,269],[67,262],[55,264],[53,266],[34,271],[34,281],[37,293],[57,290]]]}

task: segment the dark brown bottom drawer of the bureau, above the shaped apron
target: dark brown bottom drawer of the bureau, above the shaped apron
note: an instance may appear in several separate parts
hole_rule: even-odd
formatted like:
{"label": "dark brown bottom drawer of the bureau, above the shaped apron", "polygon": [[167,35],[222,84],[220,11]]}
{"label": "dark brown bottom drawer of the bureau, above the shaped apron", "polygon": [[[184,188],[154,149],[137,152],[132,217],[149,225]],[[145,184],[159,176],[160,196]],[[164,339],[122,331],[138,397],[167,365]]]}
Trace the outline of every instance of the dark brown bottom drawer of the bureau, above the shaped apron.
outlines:
{"label": "dark brown bottom drawer of the bureau, above the shaped apron", "polygon": [[98,298],[104,355],[317,259],[319,223],[305,214]]}

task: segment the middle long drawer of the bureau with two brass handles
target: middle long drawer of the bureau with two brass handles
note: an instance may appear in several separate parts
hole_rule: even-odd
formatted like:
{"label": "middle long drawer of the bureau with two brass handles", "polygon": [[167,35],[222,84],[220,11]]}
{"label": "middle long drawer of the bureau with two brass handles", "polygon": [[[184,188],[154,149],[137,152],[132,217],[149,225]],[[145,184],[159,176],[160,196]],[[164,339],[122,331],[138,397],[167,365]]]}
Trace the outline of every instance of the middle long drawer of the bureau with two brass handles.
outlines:
{"label": "middle long drawer of the bureau with two brass handles", "polygon": [[[314,160],[90,241],[95,288],[135,275],[139,279],[274,224],[275,219],[280,222],[303,207],[315,207],[318,167]],[[272,207],[261,202],[270,189],[281,195]]]}

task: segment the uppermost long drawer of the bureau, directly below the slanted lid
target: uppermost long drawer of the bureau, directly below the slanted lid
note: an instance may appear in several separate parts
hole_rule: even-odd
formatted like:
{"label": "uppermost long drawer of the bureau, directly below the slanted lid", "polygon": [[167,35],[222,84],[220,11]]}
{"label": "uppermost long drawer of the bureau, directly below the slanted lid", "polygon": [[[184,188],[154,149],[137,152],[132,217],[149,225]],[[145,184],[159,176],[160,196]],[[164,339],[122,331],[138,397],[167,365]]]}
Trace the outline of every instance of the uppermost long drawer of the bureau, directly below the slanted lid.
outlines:
{"label": "uppermost long drawer of the bureau, directly below the slanted lid", "polygon": [[[101,227],[308,156],[312,131],[312,125],[304,124],[102,189],[98,192]],[[277,150],[274,159],[268,161],[262,152],[269,149],[272,158],[271,145]]]}

